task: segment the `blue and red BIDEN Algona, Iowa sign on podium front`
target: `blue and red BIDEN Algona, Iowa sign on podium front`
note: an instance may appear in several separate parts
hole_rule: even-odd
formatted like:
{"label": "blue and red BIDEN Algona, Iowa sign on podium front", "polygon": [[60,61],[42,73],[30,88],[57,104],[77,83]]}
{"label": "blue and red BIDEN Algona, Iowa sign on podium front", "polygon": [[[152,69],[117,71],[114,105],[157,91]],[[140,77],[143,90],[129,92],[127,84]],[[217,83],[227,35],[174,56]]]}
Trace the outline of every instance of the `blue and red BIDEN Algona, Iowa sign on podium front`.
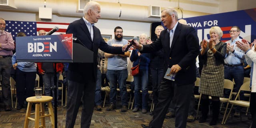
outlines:
{"label": "blue and red BIDEN Algona, Iowa sign on podium front", "polygon": [[72,34],[16,37],[16,58],[30,62],[71,62]]}

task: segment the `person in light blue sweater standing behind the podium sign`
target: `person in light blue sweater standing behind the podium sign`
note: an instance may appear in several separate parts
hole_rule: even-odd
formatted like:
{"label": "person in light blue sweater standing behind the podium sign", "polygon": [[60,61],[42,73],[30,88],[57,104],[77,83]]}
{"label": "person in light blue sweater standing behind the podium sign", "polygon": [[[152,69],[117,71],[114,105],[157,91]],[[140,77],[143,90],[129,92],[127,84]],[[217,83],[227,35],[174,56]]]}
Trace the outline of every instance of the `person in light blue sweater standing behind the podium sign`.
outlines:
{"label": "person in light blue sweater standing behind the podium sign", "polygon": [[[17,36],[26,35],[20,32]],[[12,56],[12,67],[16,70],[17,110],[20,110],[24,107],[26,98],[34,95],[36,64],[34,62],[17,62],[16,53],[14,53]]]}

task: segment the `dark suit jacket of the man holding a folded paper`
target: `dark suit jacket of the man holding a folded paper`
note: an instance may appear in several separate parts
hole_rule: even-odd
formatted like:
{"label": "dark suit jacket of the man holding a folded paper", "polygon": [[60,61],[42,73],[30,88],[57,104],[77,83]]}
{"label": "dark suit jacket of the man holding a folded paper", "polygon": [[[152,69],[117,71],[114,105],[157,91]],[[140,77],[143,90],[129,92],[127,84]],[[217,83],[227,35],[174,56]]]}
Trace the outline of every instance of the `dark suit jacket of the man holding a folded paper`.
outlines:
{"label": "dark suit jacket of the man holding a folded paper", "polygon": [[168,67],[178,64],[182,69],[175,76],[176,84],[192,84],[196,81],[196,56],[200,49],[197,32],[188,25],[178,23],[171,48],[169,35],[167,29],[163,30],[154,43],[143,45],[142,52],[153,52],[163,48],[164,73]]}

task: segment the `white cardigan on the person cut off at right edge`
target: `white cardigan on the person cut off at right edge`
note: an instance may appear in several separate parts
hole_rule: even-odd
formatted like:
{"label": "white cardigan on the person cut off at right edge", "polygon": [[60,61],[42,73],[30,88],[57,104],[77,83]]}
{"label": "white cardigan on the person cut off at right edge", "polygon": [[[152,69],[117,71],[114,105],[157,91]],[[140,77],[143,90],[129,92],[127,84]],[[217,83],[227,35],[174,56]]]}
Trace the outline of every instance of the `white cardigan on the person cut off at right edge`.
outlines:
{"label": "white cardigan on the person cut off at right edge", "polygon": [[253,72],[252,72],[252,92],[256,92],[256,51],[254,51],[254,47],[252,47],[252,50],[249,50],[245,54],[245,59],[248,65],[252,66],[252,62],[254,63],[253,65]]}

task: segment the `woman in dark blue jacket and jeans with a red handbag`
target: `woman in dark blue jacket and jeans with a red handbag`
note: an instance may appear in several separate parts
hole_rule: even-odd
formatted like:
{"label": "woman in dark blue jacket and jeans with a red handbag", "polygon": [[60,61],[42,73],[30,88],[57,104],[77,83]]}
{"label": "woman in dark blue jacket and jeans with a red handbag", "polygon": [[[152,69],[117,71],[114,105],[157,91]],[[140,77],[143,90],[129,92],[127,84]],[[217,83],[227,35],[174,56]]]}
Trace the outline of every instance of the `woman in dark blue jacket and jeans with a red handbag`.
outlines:
{"label": "woman in dark blue jacket and jeans with a red handbag", "polygon": [[[146,34],[140,35],[140,44],[146,44]],[[142,113],[147,113],[148,108],[148,65],[150,62],[149,54],[141,54],[139,50],[132,50],[130,60],[133,62],[133,67],[140,64],[140,73],[134,76],[134,109],[132,112],[137,112],[140,107],[140,90],[142,90]]]}

